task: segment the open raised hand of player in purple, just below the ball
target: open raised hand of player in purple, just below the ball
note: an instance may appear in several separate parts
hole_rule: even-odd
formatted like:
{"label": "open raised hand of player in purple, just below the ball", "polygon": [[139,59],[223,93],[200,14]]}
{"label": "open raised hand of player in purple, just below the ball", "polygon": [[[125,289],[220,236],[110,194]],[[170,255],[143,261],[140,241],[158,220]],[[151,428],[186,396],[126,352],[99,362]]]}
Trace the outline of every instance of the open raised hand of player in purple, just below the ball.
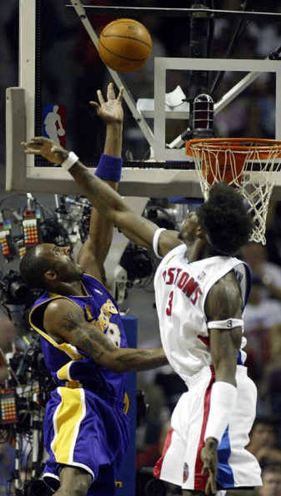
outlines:
{"label": "open raised hand of player in purple, just below the ball", "polygon": [[113,83],[107,86],[107,100],[104,99],[100,89],[97,91],[98,102],[90,101],[97,115],[103,119],[105,124],[123,123],[124,113],[122,109],[122,98],[124,88],[120,88],[119,94],[115,96]]}

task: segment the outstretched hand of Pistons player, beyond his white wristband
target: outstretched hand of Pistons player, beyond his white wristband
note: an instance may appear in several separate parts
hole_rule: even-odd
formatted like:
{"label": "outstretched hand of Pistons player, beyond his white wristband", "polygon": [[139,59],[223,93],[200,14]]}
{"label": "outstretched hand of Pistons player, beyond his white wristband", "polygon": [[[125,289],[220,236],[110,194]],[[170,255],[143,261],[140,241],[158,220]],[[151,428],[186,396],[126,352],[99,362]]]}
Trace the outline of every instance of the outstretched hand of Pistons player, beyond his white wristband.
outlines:
{"label": "outstretched hand of Pistons player, beyond his white wristband", "polygon": [[26,154],[41,155],[44,159],[52,163],[62,163],[69,152],[59,144],[48,140],[42,136],[34,137],[28,142],[22,142],[22,147]]}

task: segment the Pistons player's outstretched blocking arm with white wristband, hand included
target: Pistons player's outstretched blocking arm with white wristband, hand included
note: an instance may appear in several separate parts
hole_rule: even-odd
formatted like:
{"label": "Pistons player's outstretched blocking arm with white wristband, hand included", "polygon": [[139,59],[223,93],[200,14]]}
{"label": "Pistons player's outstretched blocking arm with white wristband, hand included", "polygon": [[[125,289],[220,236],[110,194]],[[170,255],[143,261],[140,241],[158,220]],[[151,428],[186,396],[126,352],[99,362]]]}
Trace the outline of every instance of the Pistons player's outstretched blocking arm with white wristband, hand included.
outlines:
{"label": "Pistons player's outstretched blocking arm with white wristband, hand included", "polygon": [[[84,194],[103,216],[117,225],[129,240],[145,248],[152,247],[153,236],[158,226],[129,209],[124,199],[93,175],[72,152],[58,147],[44,137],[34,137],[30,142],[22,143],[22,146],[25,153],[39,154],[53,163],[63,164],[67,160],[67,170],[79,185],[81,194]],[[178,244],[181,244],[181,241],[178,240],[177,231],[163,231],[159,238],[159,253],[164,256]]]}

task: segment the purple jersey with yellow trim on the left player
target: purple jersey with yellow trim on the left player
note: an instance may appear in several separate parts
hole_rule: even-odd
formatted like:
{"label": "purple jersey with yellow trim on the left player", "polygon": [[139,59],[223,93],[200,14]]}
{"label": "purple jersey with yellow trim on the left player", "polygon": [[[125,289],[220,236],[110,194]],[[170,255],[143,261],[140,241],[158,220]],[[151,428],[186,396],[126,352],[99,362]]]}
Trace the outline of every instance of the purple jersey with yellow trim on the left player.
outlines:
{"label": "purple jersey with yellow trim on the left player", "polygon": [[89,354],[69,342],[58,343],[44,329],[44,311],[49,302],[66,298],[84,311],[85,321],[93,323],[117,347],[126,347],[126,335],[117,303],[106,288],[91,275],[82,275],[84,296],[62,296],[44,292],[30,311],[30,324],[41,336],[41,348],[48,371],[58,386],[84,387],[111,402],[124,402],[126,374],[102,367]]}

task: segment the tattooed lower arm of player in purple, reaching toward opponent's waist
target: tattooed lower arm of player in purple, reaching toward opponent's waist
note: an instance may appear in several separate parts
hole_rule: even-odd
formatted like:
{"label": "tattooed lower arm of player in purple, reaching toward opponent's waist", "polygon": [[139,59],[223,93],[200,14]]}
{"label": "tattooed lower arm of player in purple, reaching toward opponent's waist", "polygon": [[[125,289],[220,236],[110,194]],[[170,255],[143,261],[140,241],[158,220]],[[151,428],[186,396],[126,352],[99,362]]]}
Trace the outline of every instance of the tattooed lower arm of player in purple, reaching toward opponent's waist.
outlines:
{"label": "tattooed lower arm of player in purple, reaching toward opponent's waist", "polygon": [[116,372],[144,371],[167,364],[162,348],[118,348],[93,323],[85,321],[79,306],[56,299],[44,313],[44,328],[58,342],[70,342],[97,364]]}

